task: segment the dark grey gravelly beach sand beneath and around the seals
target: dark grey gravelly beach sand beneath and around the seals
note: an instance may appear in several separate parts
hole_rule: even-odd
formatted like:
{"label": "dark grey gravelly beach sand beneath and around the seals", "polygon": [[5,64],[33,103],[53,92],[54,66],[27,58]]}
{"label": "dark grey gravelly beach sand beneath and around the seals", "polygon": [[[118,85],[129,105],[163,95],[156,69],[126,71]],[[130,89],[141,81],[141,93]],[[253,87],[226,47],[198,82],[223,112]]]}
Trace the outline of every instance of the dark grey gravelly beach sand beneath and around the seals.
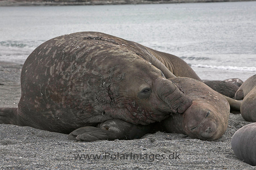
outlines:
{"label": "dark grey gravelly beach sand beneath and around the seals", "polygon": [[[21,68],[0,62],[0,107],[17,107]],[[226,133],[216,141],[158,132],[130,141],[96,142],[0,124],[0,169],[256,169],[238,160],[230,144],[232,135],[248,123],[231,113]]]}

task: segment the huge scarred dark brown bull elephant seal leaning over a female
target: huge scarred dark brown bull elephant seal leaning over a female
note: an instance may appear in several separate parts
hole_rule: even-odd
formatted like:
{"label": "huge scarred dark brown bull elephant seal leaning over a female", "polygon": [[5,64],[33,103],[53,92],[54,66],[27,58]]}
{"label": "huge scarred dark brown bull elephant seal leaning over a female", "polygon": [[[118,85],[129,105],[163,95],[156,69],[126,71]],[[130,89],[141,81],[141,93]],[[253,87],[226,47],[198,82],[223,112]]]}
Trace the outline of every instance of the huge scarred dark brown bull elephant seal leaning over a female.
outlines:
{"label": "huge scarred dark brown bull elephant seal leaning over a female", "polygon": [[[50,39],[26,59],[18,108],[0,108],[0,123],[70,133],[69,139],[83,141],[139,138],[144,134],[137,131],[147,131],[142,125],[184,113],[192,104],[166,79],[174,74],[154,57],[162,53],[152,53],[104,33]],[[175,69],[179,61],[167,65],[186,74]]]}

